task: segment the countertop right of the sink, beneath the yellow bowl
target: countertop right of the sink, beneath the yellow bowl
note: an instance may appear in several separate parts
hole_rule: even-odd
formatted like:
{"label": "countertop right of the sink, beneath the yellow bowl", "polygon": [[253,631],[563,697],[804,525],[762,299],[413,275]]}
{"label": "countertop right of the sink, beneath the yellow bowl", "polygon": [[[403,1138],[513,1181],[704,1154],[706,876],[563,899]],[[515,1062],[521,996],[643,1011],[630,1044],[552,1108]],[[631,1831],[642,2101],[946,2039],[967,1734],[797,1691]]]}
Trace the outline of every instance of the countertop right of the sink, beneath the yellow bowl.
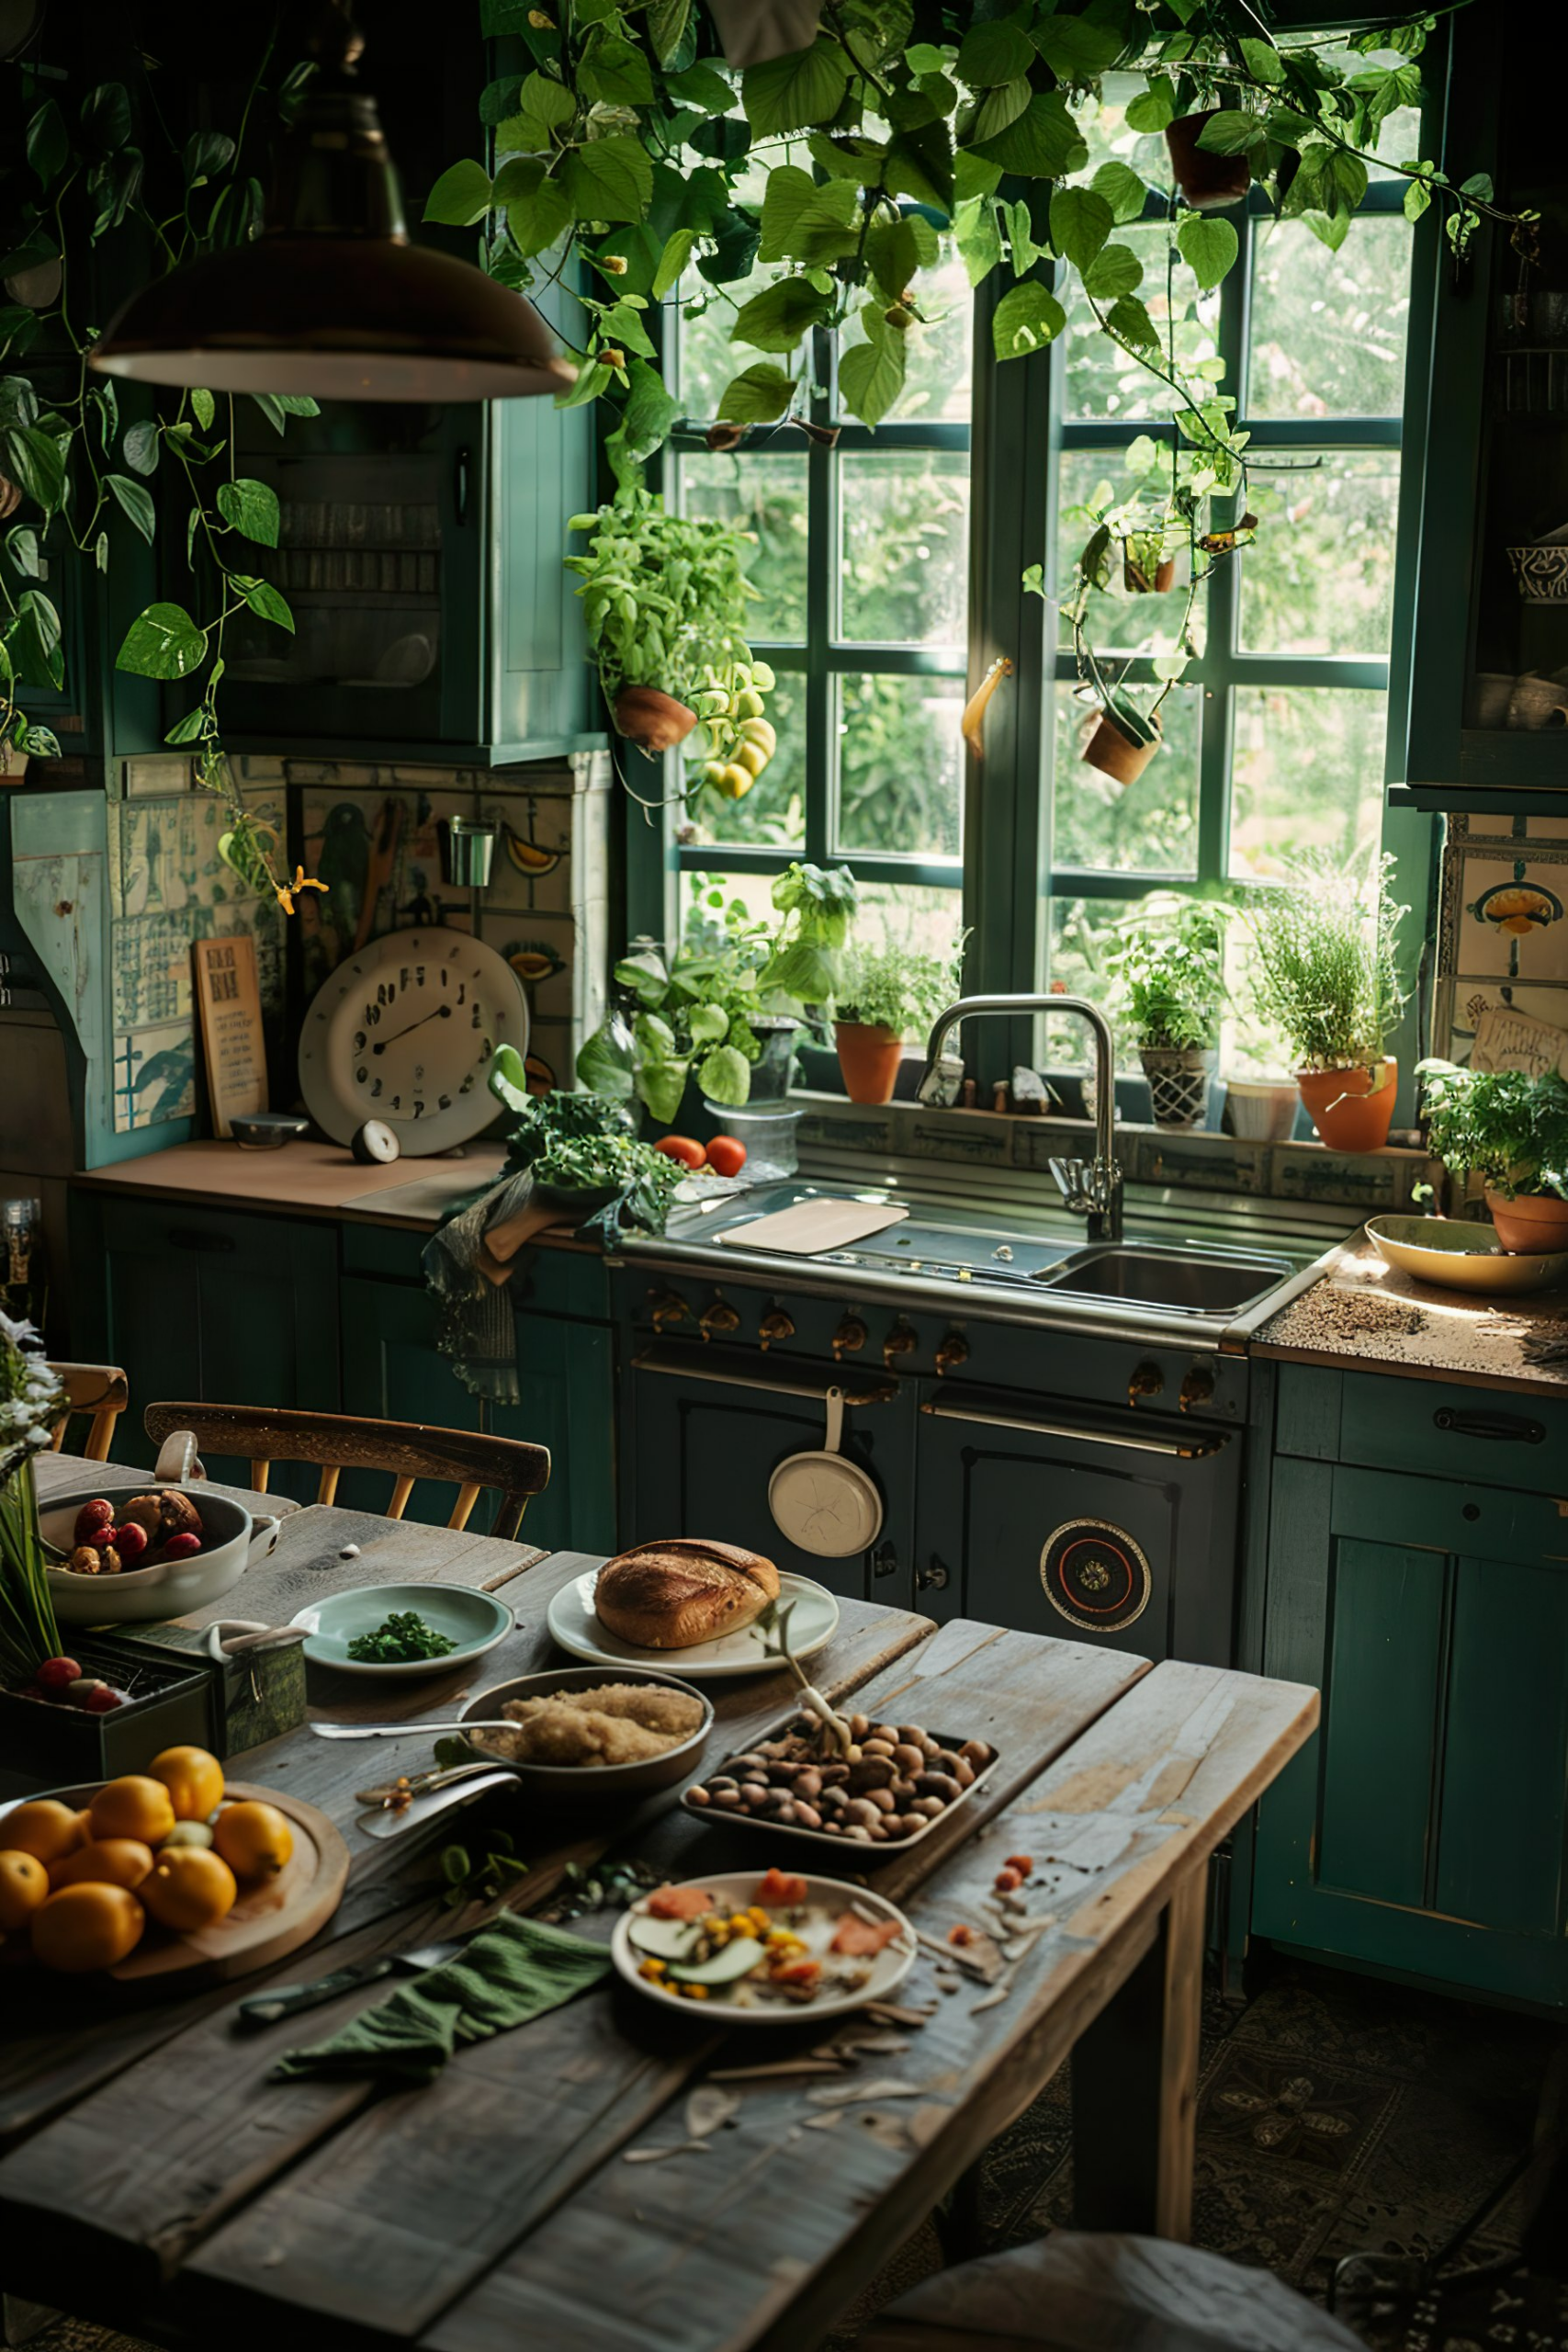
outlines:
{"label": "countertop right of the sink, beneath the yellow bowl", "polygon": [[1528,1362],[1523,1343],[1533,1336],[1568,1350],[1568,1289],[1500,1298],[1439,1289],[1385,1265],[1359,1232],[1335,1251],[1321,1282],[1262,1324],[1253,1355],[1568,1395],[1568,1355],[1561,1364]]}

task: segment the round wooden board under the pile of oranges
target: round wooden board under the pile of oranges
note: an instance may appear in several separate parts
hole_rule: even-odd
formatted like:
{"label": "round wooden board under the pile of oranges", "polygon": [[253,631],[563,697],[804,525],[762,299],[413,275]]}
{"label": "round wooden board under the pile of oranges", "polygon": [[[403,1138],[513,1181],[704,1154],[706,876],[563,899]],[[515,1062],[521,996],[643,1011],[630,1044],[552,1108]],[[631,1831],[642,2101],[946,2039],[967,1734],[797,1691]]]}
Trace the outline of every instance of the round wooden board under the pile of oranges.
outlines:
{"label": "round wooden board under the pile of oranges", "polygon": [[[49,1795],[80,1809],[92,1804],[101,1785],[101,1780],[87,1780],[82,1788],[54,1788]],[[216,1926],[174,1936],[148,1922],[136,1950],[108,1971],[115,1983],[150,1990],[167,1985],[169,1992],[188,1992],[197,1983],[249,1976],[308,1943],[343,1900],[348,1846],[324,1813],[301,1797],[284,1797],[275,1788],[254,1788],[249,1780],[230,1780],[223,1795],[261,1797],[266,1804],[275,1804],[294,1830],[294,1853],[275,1879],[249,1884],[242,1879],[240,1900]],[[5,1816],[0,1816],[2,1835]],[[35,1966],[19,1938],[7,1938],[7,1943],[12,1945],[7,1957],[26,1969]],[[92,1987],[92,1978],[75,1978],[75,1983],[82,1985],[85,1994]]]}

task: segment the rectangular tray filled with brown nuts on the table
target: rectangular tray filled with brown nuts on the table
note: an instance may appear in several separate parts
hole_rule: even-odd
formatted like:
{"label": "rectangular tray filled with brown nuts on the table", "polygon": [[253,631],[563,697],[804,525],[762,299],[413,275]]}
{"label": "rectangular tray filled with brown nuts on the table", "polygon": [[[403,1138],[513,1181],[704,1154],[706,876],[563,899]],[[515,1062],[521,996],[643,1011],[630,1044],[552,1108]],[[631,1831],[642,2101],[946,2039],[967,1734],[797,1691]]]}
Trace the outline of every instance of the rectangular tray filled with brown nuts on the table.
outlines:
{"label": "rectangular tray filled with brown nuts on the table", "polygon": [[[682,1806],[693,1820],[745,1823],[839,1853],[846,1846],[907,1853],[997,1769],[987,1740],[945,1738],[922,1724],[877,1724],[865,1715],[851,1715],[849,1726],[856,1755],[844,1762],[813,1715],[785,1715],[752,1748],[738,1748],[693,1780]],[[797,1785],[802,1776],[804,1788]]]}

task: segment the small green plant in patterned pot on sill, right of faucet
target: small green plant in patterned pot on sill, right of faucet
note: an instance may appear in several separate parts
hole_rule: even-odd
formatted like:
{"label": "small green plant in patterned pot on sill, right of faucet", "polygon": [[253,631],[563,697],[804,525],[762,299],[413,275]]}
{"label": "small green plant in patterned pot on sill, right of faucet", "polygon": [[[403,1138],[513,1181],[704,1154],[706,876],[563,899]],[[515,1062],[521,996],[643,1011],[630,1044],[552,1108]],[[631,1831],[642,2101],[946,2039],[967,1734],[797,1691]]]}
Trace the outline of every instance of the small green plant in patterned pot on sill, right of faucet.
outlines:
{"label": "small green plant in patterned pot on sill, right of faucet", "polygon": [[1201,1127],[1225,1002],[1220,908],[1150,898],[1107,962],[1138,1035],[1154,1124]]}

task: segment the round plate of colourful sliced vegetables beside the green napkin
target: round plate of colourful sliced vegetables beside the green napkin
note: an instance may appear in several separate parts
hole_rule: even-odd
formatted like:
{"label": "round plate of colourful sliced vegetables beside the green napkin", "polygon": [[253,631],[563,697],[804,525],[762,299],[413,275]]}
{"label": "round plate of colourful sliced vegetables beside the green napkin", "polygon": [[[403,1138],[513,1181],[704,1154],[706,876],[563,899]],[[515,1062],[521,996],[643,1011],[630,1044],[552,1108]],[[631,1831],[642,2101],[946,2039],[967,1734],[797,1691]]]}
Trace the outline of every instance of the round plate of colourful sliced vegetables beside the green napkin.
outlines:
{"label": "round plate of colourful sliced vegetables beside the green napkin", "polygon": [[886,1896],[795,1870],[656,1886],[616,1922],[616,1969],[654,2002],[722,2009],[726,2025],[837,2018],[884,2002],[914,1964]]}

